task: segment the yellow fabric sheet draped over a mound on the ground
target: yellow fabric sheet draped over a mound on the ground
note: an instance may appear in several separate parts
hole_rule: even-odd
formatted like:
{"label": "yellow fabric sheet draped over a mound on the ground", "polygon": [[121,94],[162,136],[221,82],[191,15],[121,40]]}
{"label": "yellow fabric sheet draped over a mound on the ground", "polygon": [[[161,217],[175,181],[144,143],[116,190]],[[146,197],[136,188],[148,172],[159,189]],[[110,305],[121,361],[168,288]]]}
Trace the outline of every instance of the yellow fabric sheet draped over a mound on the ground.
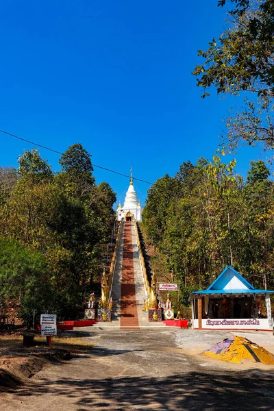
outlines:
{"label": "yellow fabric sheet draped over a mound on the ground", "polygon": [[269,353],[269,351],[266,351],[266,349],[259,347],[259,345],[255,343],[251,343],[251,341],[247,340],[247,338],[238,336],[235,336],[234,342],[229,345],[229,347],[225,351],[219,354],[216,354],[213,351],[206,351],[204,353],[201,353],[201,355],[213,358],[214,360],[229,362],[241,362],[245,359],[256,362],[245,345],[247,345],[249,349],[253,351],[253,353],[263,364],[274,364],[274,355],[272,353]]}

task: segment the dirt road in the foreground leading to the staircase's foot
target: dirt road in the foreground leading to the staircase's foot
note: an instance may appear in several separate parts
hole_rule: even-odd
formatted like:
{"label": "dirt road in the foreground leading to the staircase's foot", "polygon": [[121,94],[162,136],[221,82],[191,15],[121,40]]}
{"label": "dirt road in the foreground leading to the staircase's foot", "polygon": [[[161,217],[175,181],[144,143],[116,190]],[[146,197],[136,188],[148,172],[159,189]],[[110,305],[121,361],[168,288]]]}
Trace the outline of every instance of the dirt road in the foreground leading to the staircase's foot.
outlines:
{"label": "dirt road in the foreground leading to the staircase's foot", "polygon": [[[207,335],[216,342],[219,334]],[[0,409],[274,410],[274,366],[227,366],[189,355],[198,332],[97,330],[82,336],[95,342],[91,351],[47,366],[1,394]]]}

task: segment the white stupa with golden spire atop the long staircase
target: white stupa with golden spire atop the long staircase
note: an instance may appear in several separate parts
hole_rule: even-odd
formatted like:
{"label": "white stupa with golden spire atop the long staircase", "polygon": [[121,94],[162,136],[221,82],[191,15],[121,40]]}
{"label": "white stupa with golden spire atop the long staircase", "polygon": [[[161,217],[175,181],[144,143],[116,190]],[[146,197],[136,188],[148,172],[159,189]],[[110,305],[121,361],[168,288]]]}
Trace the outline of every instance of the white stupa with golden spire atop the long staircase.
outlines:
{"label": "white stupa with golden spire atop the long staircase", "polygon": [[117,220],[125,219],[125,221],[132,221],[132,217],[136,221],[142,221],[142,210],[140,202],[137,197],[137,193],[134,190],[134,185],[132,182],[132,169],[130,170],[130,184],[125,195],[125,202],[122,208],[121,202],[117,207]]}

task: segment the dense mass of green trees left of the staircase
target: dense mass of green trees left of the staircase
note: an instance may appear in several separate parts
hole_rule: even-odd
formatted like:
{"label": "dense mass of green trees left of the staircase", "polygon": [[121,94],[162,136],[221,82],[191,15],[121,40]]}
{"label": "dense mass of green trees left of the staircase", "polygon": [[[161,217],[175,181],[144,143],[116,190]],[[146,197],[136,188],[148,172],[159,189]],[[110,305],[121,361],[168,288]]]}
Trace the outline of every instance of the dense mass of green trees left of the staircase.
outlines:
{"label": "dense mass of green trees left of the staircase", "polygon": [[80,144],[62,155],[60,173],[38,150],[18,163],[17,171],[0,169],[0,303],[17,297],[25,321],[34,308],[72,318],[101,273],[116,195],[95,184]]}

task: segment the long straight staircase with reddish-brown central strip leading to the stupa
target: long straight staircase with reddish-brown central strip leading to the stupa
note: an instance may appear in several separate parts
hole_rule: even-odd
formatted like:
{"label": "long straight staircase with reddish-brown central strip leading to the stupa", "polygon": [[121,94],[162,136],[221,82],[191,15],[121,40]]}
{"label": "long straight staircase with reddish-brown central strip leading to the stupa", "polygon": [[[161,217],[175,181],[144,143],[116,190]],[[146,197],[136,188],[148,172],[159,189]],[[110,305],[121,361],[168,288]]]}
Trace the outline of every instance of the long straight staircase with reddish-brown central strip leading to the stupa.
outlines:
{"label": "long straight staircase with reddish-brown central strip leading to the stupa", "polygon": [[136,229],[131,221],[123,221],[112,286],[113,312],[111,323],[97,323],[95,328],[140,329],[165,327],[149,323],[143,311],[145,286],[136,240]]}

